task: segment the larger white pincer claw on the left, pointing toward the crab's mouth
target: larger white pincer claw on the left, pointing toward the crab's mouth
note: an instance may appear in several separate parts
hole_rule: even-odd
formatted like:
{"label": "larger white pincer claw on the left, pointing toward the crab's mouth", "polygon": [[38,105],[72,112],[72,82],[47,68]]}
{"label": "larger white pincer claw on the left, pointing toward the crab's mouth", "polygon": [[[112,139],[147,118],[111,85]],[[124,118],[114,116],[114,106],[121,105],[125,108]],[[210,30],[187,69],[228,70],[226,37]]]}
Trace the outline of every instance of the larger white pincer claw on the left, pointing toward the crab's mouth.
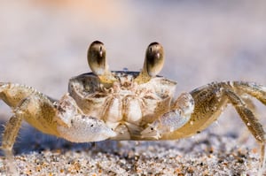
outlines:
{"label": "larger white pincer claw on the left, pointing toward the crab's mouth", "polygon": [[98,142],[116,136],[103,120],[82,114],[68,94],[59,101],[56,121],[59,134],[70,142]]}

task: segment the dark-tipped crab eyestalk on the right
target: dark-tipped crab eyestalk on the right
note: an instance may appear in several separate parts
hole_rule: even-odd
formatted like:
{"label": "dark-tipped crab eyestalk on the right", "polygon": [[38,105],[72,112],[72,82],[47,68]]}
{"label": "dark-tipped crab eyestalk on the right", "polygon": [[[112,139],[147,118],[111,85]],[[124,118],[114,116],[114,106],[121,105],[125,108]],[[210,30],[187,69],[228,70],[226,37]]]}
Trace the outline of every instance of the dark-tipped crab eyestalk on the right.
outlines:
{"label": "dark-tipped crab eyestalk on the right", "polygon": [[138,83],[145,83],[160,73],[164,64],[163,48],[158,42],[152,42],[145,52],[145,63],[136,78]]}

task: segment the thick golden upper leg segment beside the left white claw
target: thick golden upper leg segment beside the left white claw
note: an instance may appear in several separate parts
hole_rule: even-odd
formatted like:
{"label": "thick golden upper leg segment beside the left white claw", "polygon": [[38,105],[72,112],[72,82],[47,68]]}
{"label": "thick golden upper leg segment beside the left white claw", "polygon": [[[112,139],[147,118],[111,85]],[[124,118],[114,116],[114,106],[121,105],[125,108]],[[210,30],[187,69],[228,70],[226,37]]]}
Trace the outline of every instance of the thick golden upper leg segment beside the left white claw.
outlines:
{"label": "thick golden upper leg segment beside the left white claw", "polygon": [[3,83],[0,98],[4,100],[16,117],[21,116],[30,125],[45,134],[59,136],[56,116],[56,102],[34,88],[20,84]]}

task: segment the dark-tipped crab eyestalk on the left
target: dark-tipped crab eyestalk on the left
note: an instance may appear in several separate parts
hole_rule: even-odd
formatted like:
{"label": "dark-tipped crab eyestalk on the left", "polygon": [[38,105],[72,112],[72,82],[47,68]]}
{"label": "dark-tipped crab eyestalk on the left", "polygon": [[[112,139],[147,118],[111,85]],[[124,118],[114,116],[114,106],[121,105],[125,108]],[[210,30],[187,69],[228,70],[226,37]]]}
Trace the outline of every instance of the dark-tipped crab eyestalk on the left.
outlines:
{"label": "dark-tipped crab eyestalk on the left", "polygon": [[106,48],[103,42],[95,41],[90,44],[88,53],[88,64],[92,73],[98,75],[98,78],[104,83],[112,83],[113,74],[108,71],[106,62]]}

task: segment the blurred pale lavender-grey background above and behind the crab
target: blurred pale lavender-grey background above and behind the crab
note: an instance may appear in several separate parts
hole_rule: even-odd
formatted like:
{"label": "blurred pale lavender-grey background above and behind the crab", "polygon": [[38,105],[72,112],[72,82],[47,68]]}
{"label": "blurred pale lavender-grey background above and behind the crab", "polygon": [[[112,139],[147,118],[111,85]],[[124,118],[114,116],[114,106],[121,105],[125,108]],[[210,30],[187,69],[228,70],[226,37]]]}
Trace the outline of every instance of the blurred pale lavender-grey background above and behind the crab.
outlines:
{"label": "blurred pale lavender-grey background above and behind the crab", "polygon": [[[90,72],[86,53],[95,40],[106,44],[111,70],[132,71],[142,68],[147,45],[160,42],[166,54],[160,74],[178,82],[178,93],[216,80],[266,85],[263,0],[2,0],[0,25],[0,81],[56,98],[70,77]],[[232,113],[228,128],[217,129],[222,134],[246,131],[243,124],[234,131],[231,119],[239,118]],[[10,115],[0,102],[0,119]]]}

